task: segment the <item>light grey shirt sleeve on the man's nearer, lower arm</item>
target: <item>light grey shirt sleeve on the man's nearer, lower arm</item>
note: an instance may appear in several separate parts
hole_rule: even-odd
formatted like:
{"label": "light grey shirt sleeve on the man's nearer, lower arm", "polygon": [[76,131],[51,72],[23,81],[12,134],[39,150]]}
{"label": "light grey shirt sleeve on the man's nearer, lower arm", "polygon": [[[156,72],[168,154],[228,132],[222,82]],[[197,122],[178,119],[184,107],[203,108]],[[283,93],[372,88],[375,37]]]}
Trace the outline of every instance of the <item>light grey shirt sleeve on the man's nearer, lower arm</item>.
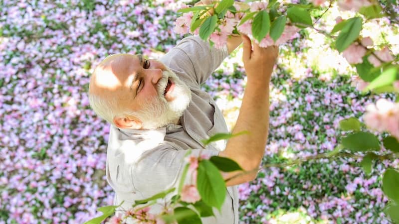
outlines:
{"label": "light grey shirt sleeve on the man's nearer, lower arm", "polygon": [[[164,190],[176,187],[186,162],[187,150],[177,150],[171,147],[157,147],[144,153],[132,166],[133,185],[143,194],[151,197]],[[217,150],[192,149],[191,155],[218,155]]]}

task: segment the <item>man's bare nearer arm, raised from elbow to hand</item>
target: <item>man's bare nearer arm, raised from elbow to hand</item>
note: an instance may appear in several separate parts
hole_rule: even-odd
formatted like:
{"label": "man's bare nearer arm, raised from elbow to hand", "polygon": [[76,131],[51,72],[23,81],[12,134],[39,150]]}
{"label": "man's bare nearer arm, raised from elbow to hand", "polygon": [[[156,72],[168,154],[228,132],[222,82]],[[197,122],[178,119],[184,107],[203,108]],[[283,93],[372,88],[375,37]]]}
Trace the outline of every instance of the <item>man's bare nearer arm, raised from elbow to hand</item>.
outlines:
{"label": "man's bare nearer arm, raised from elbow to hand", "polygon": [[[231,138],[226,149],[219,156],[235,160],[244,170],[256,170],[264,154],[269,127],[269,84],[278,48],[271,46],[260,48],[243,35],[243,61],[248,82],[242,99],[242,105],[233,133],[249,131],[249,134]],[[225,179],[242,172],[223,174]],[[231,179],[227,186],[245,183],[256,178],[257,172]]]}

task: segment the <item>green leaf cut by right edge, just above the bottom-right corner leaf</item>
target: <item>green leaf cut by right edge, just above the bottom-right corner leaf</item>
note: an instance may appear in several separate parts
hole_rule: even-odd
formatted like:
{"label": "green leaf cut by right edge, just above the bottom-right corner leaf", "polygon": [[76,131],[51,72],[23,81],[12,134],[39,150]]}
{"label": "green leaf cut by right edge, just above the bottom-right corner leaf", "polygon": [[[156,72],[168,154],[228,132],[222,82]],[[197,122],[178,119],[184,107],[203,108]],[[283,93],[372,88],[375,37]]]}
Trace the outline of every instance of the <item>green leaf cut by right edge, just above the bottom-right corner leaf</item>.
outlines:
{"label": "green leaf cut by right edge, just above the bottom-right corner leaf", "polygon": [[394,169],[387,169],[383,177],[383,192],[388,198],[399,202],[399,173]]}

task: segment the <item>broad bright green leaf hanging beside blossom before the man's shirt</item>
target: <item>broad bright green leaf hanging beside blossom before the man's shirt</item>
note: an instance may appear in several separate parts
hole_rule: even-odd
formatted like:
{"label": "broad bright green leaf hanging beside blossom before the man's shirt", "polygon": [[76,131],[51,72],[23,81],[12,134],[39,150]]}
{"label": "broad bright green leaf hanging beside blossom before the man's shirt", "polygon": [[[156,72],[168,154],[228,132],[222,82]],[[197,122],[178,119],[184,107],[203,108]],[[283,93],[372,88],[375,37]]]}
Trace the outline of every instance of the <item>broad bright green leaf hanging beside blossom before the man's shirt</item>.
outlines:
{"label": "broad bright green leaf hanging beside blossom before the man's shirt", "polygon": [[219,211],[226,196],[226,184],[219,170],[208,160],[198,165],[197,189],[202,201]]}

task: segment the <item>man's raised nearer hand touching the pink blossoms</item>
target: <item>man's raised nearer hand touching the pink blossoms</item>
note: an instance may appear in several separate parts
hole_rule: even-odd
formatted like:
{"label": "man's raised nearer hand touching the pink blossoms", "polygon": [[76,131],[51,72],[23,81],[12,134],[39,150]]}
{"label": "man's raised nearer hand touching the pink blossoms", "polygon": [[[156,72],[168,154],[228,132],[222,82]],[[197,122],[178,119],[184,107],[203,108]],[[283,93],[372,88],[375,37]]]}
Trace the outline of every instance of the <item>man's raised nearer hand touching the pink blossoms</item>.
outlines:
{"label": "man's raised nearer hand touching the pink blossoms", "polygon": [[269,84],[271,73],[278,56],[278,47],[269,46],[266,48],[259,47],[258,44],[252,43],[248,36],[242,35],[243,54],[245,72],[248,82],[258,84]]}

